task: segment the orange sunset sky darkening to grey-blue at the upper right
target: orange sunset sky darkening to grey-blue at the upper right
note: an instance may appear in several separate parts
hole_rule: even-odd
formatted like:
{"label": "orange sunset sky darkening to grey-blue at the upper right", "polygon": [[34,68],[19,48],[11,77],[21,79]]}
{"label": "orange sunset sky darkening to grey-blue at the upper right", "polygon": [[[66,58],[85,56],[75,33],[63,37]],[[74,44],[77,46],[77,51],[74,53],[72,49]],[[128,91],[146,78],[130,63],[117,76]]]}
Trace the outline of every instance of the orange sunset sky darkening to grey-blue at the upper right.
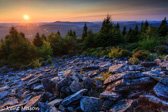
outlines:
{"label": "orange sunset sky darkening to grey-blue at the upper right", "polygon": [[[24,20],[24,15],[29,20]],[[168,0],[0,0],[0,23],[162,20]]]}

